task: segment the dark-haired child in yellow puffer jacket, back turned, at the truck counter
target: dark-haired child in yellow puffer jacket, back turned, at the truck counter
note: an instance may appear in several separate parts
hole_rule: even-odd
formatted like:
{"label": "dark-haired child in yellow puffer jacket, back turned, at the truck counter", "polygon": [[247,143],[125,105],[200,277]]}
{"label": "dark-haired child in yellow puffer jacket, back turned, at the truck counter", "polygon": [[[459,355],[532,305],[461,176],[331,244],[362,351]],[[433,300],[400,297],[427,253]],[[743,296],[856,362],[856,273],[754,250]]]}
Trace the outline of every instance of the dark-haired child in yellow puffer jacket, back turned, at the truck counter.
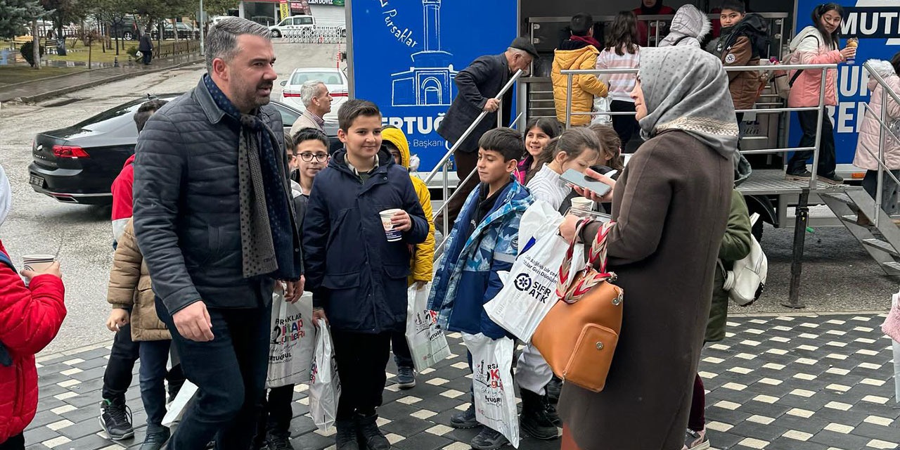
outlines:
{"label": "dark-haired child in yellow puffer jacket, back turned, at the truck counter", "polygon": [[[568,69],[594,69],[603,46],[594,39],[594,19],[590,14],[579,13],[572,16],[569,28],[572,36],[560,43],[554,50],[554,64],[551,78],[554,84],[554,104],[556,120],[565,123],[565,103],[568,77],[562,71]],[[594,96],[605,97],[608,87],[594,75],[576,75],[572,78],[572,112],[590,112],[594,106]],[[588,115],[573,115],[572,125],[590,122]]]}

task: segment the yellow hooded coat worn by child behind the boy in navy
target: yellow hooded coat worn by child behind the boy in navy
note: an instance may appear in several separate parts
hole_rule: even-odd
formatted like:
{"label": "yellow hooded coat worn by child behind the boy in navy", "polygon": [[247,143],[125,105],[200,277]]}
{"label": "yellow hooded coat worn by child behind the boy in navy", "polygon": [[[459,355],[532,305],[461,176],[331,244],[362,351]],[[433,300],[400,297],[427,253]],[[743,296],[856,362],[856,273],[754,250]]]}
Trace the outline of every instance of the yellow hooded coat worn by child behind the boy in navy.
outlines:
{"label": "yellow hooded coat worn by child behind the boy in navy", "polygon": [[[382,130],[382,138],[400,148],[401,163],[407,170],[410,170],[410,143],[406,140],[403,131],[388,128]],[[431,281],[435,260],[435,220],[433,219],[434,212],[431,210],[431,193],[428,192],[428,185],[418,176],[410,175],[410,180],[412,187],[416,189],[416,194],[419,195],[419,203],[422,205],[422,211],[425,211],[425,219],[428,220],[428,238],[413,248],[409,279],[411,285],[418,281]]]}

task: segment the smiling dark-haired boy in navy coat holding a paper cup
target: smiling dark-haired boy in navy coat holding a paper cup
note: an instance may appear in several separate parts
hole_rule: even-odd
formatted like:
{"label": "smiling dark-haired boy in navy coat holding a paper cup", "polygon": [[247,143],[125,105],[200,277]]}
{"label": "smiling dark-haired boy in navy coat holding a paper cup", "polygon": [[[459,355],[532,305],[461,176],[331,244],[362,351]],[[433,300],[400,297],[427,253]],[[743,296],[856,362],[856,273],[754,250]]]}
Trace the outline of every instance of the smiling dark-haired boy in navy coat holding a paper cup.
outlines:
{"label": "smiling dark-haired boy in navy coat holding a paper cup", "polygon": [[[391,355],[391,334],[405,329],[410,245],[428,221],[406,169],[382,146],[382,114],[349,100],[338,110],[344,148],[316,175],[303,220],[303,252],[313,318],[329,320],[341,381],[338,450],[391,445],[375,424]],[[388,240],[380,213],[396,210]]]}

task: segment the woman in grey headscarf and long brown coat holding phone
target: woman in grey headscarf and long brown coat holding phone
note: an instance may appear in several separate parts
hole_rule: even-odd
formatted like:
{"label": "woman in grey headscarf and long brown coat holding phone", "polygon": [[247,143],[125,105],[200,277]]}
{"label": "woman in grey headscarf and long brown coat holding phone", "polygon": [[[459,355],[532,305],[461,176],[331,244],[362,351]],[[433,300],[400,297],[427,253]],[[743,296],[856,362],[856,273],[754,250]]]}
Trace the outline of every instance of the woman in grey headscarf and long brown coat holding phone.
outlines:
{"label": "woman in grey headscarf and long brown coat holding phone", "polygon": [[[728,219],[738,128],[719,60],[690,46],[642,49],[631,95],[646,142],[613,190],[608,235],[608,270],[625,291],[622,331],[603,392],[563,384],[563,449],[684,445]],[[563,221],[564,238],[576,220]],[[582,231],[587,245],[598,229]]]}

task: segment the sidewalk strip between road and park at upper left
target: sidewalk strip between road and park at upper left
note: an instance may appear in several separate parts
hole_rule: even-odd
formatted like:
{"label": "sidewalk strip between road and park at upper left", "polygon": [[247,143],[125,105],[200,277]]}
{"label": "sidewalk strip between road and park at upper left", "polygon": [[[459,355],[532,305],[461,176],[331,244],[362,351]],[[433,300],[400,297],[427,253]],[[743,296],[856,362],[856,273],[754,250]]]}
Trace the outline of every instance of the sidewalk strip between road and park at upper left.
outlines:
{"label": "sidewalk strip between road and park at upper left", "polygon": [[[124,57],[124,55],[122,55]],[[123,62],[121,67],[105,67],[85,70],[75,74],[52,76],[26,83],[0,87],[0,102],[21,99],[23,102],[39,102],[56,95],[67,94],[80,89],[102,85],[112,81],[169,70],[202,61],[199,54],[174,58],[154,59],[149,66]]]}

